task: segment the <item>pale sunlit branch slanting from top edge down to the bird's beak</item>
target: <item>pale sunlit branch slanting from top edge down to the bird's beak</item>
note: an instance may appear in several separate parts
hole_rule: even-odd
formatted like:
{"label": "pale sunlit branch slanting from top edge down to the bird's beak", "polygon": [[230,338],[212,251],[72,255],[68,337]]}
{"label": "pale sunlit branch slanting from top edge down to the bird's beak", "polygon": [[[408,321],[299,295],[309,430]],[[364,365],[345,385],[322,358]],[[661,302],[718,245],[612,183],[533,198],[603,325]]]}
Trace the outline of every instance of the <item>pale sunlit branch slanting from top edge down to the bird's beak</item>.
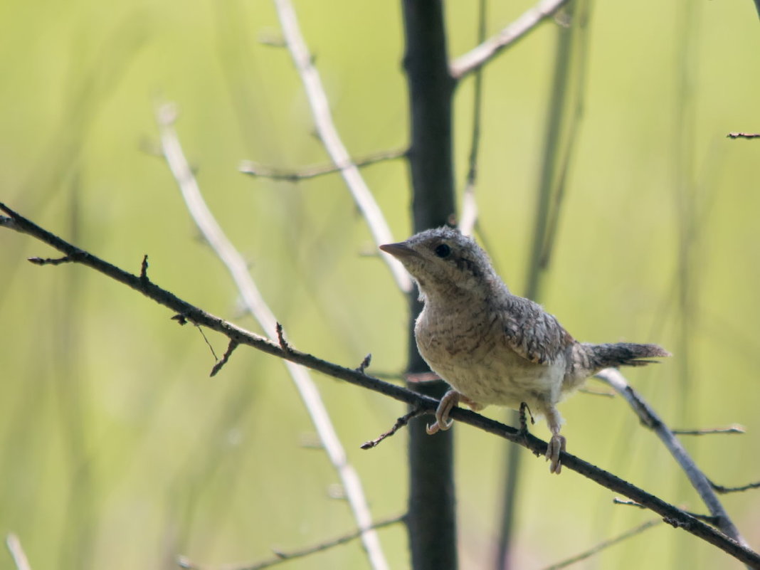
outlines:
{"label": "pale sunlit branch slanting from top edge down to the bird's beak", "polygon": [[[298,71],[304,90],[306,90],[306,97],[309,99],[309,105],[312,108],[312,116],[319,139],[325,145],[325,150],[328,151],[335,166],[340,168],[340,175],[343,176],[356,206],[362,212],[369,226],[369,231],[375,239],[375,244],[381,245],[392,242],[391,229],[388,227],[375,197],[372,196],[372,192],[369,192],[366,182],[359,174],[359,169],[351,161],[348,150],[346,150],[343,141],[340,140],[340,135],[337,133],[330,112],[330,105],[325,95],[325,88],[322,87],[319,72],[314,66],[312,55],[309,53],[309,48],[301,34],[293,5],[290,4],[290,0],[274,0],[274,5],[277,8],[277,16],[280,18],[285,43],[287,43],[293,64],[296,66],[296,71]],[[401,263],[387,253],[382,253],[382,258],[388,264],[388,268],[391,269],[391,274],[393,274],[399,289],[404,293],[412,290],[412,280]]]}

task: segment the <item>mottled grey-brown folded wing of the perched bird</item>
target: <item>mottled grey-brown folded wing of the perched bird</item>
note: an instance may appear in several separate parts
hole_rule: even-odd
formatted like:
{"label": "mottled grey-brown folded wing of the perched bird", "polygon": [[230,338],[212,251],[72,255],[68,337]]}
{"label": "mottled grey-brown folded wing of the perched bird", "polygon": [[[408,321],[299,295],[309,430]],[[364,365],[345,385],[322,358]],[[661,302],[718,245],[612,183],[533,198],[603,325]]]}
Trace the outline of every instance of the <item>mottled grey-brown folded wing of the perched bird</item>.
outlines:
{"label": "mottled grey-brown folded wing of the perched bird", "polygon": [[507,346],[532,363],[553,363],[575,342],[553,315],[530,299],[510,296],[501,315]]}

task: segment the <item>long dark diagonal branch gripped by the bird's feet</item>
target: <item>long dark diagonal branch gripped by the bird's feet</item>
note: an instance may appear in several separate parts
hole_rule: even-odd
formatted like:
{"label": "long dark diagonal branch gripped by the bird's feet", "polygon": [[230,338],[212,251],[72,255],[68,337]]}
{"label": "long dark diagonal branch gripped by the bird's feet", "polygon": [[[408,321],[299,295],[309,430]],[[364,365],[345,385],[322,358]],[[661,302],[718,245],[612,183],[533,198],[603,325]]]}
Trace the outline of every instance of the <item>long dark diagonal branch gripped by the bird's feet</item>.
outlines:
{"label": "long dark diagonal branch gripped by the bird's feet", "polygon": [[[40,226],[37,226],[32,221],[21,216],[21,214],[17,214],[5,204],[0,203],[0,211],[8,214],[7,217],[0,216],[0,226],[33,236],[35,239],[39,239],[41,242],[58,249],[65,255],[76,255],[78,263],[92,268],[95,271],[99,271],[107,277],[119,281],[119,283],[125,284],[127,287],[130,287],[131,289],[142,293],[144,296],[153,299],[160,305],[165,306],[174,314],[183,315],[187,321],[191,321],[196,325],[211,328],[212,330],[223,334],[230,340],[236,340],[239,344],[245,344],[249,347],[261,350],[262,352],[286,359],[291,363],[300,364],[325,375],[332,376],[333,378],[339,378],[350,384],[361,386],[380,394],[385,394],[397,401],[405,402],[414,407],[419,407],[421,410],[425,410],[428,413],[435,411],[439,405],[439,401],[435,400],[435,398],[418,394],[407,388],[402,388],[401,386],[383,382],[378,378],[373,378],[372,376],[356,372],[354,369],[328,362],[327,360],[320,359],[312,354],[296,350],[293,347],[291,347],[290,351],[284,351],[280,345],[273,340],[246,331],[244,328],[233,325],[233,323],[230,323],[229,321],[225,321],[211,313],[205,312],[204,310],[191,305],[187,301],[180,299],[173,293],[158,287],[153,282],[143,284],[138,275],[130,274],[127,271],[116,267],[116,265],[103,261],[103,259],[98,258],[96,255],[92,255],[71,245],[71,243],[66,242],[59,236],[56,236],[47,230],[43,230]],[[455,407],[451,410],[450,416],[452,419],[461,423],[477,427],[485,432],[492,433],[501,438],[507,439],[510,442],[521,445],[524,448],[530,449],[530,451],[536,455],[543,455],[546,453],[546,442],[541,439],[538,439],[529,433],[521,433],[518,429],[505,426],[502,423],[481,416],[473,411]],[[748,546],[737,542],[733,538],[727,537],[726,534],[715,530],[708,524],[686,514],[676,506],[645,492],[643,489],[640,489],[619,477],[616,477],[613,473],[600,469],[587,461],[583,461],[581,458],[578,458],[573,454],[563,451],[562,454],[560,454],[560,458],[562,460],[562,466],[566,469],[580,473],[582,476],[587,477],[587,479],[595,481],[613,492],[618,492],[621,495],[627,496],[629,499],[644,505],[644,507],[651,509],[651,511],[656,512],[663,518],[666,518],[670,524],[673,524],[682,530],[686,530],[689,534],[693,534],[695,537],[699,537],[702,540],[717,546],[717,548],[720,548],[740,562],[745,562],[747,565],[752,566],[752,568],[760,568],[760,554],[755,553]]]}

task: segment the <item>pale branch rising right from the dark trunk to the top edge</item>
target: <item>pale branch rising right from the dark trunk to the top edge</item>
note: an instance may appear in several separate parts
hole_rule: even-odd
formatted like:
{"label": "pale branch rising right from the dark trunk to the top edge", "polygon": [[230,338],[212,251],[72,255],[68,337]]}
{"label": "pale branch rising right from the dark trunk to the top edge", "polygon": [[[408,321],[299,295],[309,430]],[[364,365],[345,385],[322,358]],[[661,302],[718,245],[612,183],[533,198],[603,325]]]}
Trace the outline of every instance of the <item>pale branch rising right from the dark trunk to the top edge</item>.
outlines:
{"label": "pale branch rising right from the dark trunk to the top edge", "polygon": [[455,79],[464,78],[467,74],[483,67],[499,55],[502,49],[518,42],[547,17],[553,15],[568,0],[541,0],[537,5],[526,11],[521,17],[509,24],[502,31],[481,43],[464,55],[460,55],[451,63],[451,75]]}

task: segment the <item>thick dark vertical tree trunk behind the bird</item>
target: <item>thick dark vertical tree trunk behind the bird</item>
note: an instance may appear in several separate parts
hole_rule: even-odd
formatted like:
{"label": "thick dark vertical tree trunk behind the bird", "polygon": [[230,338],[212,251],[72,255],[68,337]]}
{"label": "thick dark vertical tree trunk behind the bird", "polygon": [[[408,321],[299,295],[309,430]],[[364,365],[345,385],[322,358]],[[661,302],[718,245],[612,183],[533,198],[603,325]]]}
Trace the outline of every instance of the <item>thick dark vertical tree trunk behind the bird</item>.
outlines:
{"label": "thick dark vertical tree trunk behind the bird", "polygon": [[[451,142],[454,79],[448,69],[441,0],[403,0],[409,86],[414,231],[442,226],[455,211]],[[426,371],[413,338],[420,303],[410,296],[409,372]],[[410,385],[441,397],[443,382]],[[414,570],[457,568],[456,501],[452,432],[429,436],[426,418],[410,423],[408,530]]]}

